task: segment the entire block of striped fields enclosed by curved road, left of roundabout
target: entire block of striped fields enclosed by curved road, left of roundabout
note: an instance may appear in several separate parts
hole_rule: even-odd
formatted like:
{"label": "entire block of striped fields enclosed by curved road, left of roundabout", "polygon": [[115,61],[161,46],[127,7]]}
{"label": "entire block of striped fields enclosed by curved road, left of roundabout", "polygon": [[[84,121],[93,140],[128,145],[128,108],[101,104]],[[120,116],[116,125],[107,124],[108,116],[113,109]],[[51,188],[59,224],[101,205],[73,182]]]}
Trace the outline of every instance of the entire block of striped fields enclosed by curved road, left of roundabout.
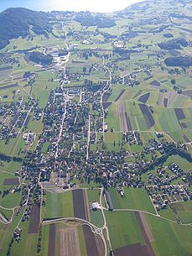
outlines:
{"label": "entire block of striped fields enclosed by curved road, left of roundabout", "polygon": [[[88,226],[81,226],[75,222],[60,222],[46,224],[43,227],[43,250],[41,255],[78,255],[91,256],[98,251],[102,242]],[[90,247],[91,244],[91,247]],[[102,252],[100,255],[103,255]]]}

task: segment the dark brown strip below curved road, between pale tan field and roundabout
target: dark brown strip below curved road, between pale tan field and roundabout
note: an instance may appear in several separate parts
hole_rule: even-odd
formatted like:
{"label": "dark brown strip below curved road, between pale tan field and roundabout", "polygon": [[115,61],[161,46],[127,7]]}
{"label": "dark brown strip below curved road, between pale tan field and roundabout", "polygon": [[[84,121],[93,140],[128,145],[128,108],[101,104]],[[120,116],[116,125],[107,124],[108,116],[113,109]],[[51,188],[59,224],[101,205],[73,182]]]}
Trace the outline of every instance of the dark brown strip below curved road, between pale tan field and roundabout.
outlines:
{"label": "dark brown strip below curved road, between pale tan field and roundabout", "polygon": [[87,256],[100,256],[96,246],[96,237],[95,234],[91,231],[91,227],[87,225],[83,226],[83,232],[86,241]]}

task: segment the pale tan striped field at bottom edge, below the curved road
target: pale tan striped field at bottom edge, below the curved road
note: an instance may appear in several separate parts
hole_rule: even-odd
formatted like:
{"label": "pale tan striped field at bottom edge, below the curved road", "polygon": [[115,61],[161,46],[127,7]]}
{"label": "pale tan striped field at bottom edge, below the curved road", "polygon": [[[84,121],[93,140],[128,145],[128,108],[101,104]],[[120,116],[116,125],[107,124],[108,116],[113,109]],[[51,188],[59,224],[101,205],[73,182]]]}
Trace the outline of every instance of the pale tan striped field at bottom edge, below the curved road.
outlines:
{"label": "pale tan striped field at bottom edge, below the curved road", "polygon": [[60,231],[60,256],[80,256],[80,243],[76,227]]}

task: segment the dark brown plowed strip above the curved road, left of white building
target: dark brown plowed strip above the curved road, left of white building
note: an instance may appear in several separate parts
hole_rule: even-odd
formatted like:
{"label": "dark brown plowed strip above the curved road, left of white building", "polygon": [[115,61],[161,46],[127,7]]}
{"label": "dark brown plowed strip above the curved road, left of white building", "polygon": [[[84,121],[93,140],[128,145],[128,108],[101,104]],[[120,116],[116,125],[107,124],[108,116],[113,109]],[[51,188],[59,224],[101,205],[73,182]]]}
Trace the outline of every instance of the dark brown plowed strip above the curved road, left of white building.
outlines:
{"label": "dark brown plowed strip above the curved road, left of white building", "polygon": [[73,191],[74,216],[88,220],[86,198],[83,190]]}

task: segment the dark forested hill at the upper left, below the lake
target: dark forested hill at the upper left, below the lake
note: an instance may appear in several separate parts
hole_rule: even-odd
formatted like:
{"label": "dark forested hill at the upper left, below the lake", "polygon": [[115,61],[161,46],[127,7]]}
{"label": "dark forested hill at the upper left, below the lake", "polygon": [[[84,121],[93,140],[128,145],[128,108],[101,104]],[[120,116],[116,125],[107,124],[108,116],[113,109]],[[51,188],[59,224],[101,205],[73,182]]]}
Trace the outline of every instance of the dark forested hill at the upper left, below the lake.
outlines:
{"label": "dark forested hill at the upper left, below the lake", "polygon": [[9,44],[9,39],[26,37],[30,26],[35,34],[49,34],[52,31],[49,13],[26,8],[8,8],[0,13],[0,49]]}

